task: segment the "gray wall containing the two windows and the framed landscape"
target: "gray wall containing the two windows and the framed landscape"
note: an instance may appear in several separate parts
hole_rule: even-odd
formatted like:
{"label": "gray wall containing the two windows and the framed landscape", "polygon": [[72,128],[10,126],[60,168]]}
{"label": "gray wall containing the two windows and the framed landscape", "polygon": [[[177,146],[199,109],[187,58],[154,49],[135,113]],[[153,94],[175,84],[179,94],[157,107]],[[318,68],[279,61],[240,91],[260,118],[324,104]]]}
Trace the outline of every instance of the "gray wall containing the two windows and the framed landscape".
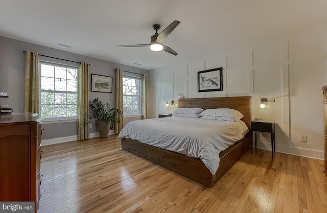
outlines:
{"label": "gray wall containing the two windows and the framed landscape", "polygon": [[[0,99],[0,104],[8,104],[10,107],[14,108],[15,112],[24,112],[25,53],[21,53],[21,51],[25,50],[37,51],[41,55],[72,61],[85,61],[92,64],[92,66],[90,66],[90,74],[112,76],[112,93],[91,91],[89,93],[90,100],[99,98],[102,102],[108,102],[110,106],[115,105],[114,68],[122,68],[123,70],[138,74],[148,74],[148,79],[150,80],[149,71],[145,69],[139,69],[88,56],[47,48],[33,43],[0,37],[0,91],[7,92],[9,96],[9,98]],[[64,63],[64,61],[62,62]],[[150,85],[150,82],[148,82],[148,84]],[[148,88],[150,88],[149,85]],[[95,125],[92,126],[93,129],[90,130],[90,132],[96,132]],[[77,135],[76,122],[43,124],[43,128],[45,130],[43,131],[42,139]]]}

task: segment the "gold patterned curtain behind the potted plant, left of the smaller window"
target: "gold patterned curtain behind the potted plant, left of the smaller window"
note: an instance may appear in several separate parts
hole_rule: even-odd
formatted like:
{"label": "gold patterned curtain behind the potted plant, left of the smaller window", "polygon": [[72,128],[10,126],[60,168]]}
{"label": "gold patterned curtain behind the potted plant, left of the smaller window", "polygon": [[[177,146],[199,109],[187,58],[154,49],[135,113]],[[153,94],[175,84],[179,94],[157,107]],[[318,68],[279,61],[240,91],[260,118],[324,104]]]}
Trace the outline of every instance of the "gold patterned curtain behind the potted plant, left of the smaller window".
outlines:
{"label": "gold patterned curtain behind the potted plant, left of the smaller window", "polygon": [[[115,107],[118,108],[120,111],[124,111],[124,104],[123,104],[123,70],[122,69],[115,69]],[[118,114],[118,118],[121,121],[119,124],[115,123],[114,125],[114,133],[118,134],[124,127],[124,114]]]}

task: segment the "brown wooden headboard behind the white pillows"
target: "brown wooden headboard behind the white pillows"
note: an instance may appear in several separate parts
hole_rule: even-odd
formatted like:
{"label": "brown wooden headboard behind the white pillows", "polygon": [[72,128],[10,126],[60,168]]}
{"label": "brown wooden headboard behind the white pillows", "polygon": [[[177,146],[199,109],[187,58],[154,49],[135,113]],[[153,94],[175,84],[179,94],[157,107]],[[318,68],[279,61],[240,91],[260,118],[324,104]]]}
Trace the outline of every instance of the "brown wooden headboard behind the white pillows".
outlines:
{"label": "brown wooden headboard behind the white pillows", "polygon": [[219,97],[178,99],[178,108],[200,107],[202,109],[230,108],[240,111],[241,119],[251,129],[251,97]]}

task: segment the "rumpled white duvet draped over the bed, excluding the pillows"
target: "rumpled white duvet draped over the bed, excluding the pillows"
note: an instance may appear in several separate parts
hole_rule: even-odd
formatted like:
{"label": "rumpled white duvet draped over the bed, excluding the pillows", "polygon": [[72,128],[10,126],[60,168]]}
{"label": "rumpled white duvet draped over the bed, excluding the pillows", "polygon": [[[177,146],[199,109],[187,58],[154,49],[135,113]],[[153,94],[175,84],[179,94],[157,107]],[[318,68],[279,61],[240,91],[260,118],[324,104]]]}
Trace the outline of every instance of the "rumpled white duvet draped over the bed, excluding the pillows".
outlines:
{"label": "rumpled white duvet draped over the bed, excluding the pillows", "polygon": [[162,149],[200,158],[215,175],[219,153],[249,132],[243,121],[227,122],[189,117],[164,117],[128,123],[119,138],[130,138]]}

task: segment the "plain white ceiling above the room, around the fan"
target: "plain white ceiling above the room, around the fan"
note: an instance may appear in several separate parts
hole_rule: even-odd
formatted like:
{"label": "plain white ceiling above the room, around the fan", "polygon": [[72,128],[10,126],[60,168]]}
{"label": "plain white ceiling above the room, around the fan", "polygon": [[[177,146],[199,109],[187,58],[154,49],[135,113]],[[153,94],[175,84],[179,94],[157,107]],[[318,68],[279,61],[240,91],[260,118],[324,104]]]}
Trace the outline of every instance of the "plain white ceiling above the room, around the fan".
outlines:
{"label": "plain white ceiling above the room, around the fan", "polygon": [[[0,5],[0,36],[149,70],[327,25],[325,0],[0,0]],[[116,46],[150,43],[154,23],[161,25],[160,33],[174,20],[180,24],[164,44],[177,56],[148,46]]]}

